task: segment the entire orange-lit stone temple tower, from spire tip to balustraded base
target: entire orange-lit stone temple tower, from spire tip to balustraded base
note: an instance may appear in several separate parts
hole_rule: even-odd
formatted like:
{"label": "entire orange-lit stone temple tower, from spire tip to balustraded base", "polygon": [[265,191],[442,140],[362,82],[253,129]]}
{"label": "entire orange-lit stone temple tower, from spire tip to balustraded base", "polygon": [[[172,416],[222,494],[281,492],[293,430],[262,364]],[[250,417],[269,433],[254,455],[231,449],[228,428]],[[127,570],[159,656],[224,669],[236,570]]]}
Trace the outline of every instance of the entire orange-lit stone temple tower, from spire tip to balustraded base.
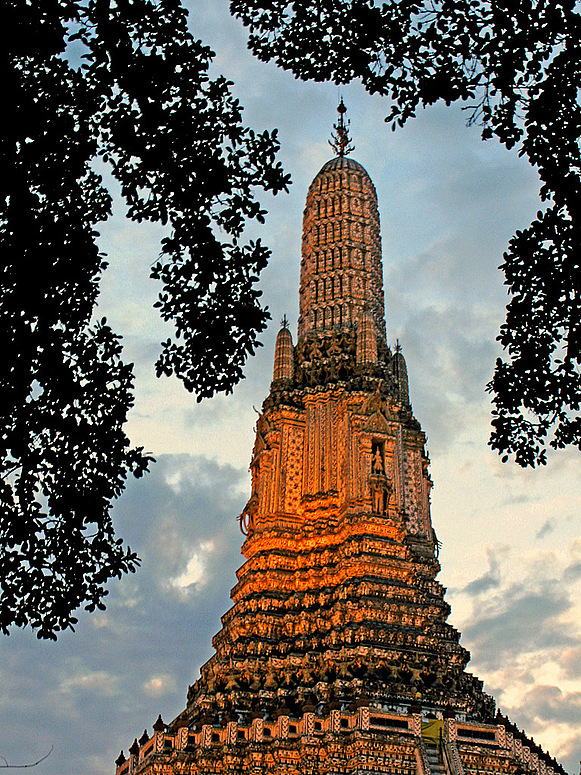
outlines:
{"label": "entire orange-lit stone temple tower, from spire tip to balustraded base", "polygon": [[375,188],[342,112],[335,128],[305,207],[298,341],[285,321],[256,425],[232,608],[186,709],[116,775],[562,774],[495,713],[447,622]]}

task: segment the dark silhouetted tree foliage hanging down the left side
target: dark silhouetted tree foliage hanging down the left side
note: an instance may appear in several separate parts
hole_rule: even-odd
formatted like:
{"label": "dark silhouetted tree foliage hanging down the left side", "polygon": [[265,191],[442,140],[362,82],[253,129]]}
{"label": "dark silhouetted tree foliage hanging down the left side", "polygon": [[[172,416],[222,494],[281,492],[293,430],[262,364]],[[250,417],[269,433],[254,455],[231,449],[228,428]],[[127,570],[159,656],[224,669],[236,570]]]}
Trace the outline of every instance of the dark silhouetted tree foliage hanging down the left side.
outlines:
{"label": "dark silhouetted tree foliage hanging down the left side", "polygon": [[150,458],[123,431],[132,367],[92,323],[104,257],[95,225],[110,165],[129,217],[168,224],[153,277],[173,321],[158,374],[198,398],[229,391],[268,317],[256,282],[269,251],[245,244],[286,188],[275,133],[255,134],[179,0],[8,0],[0,129],[0,629],[55,638],[138,559],[112,501]]}

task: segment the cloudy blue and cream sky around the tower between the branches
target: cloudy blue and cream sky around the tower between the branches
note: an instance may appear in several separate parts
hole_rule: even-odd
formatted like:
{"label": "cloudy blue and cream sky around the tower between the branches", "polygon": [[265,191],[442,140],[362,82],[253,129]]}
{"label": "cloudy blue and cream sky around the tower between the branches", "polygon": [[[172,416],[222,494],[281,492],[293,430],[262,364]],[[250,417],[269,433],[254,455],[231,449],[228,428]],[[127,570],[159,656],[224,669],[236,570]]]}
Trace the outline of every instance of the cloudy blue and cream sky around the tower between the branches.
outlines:
{"label": "cloudy blue and cream sky around the tower between the branches", "polygon": [[[230,396],[202,404],[153,364],[166,335],[149,268],[164,232],[136,225],[117,202],[101,227],[110,266],[99,317],[123,334],[135,364],[134,444],[157,463],[115,505],[119,536],[142,559],[110,584],[107,610],[81,612],[56,643],[29,631],[2,637],[0,756],[50,756],[36,775],[114,773],[157,715],[169,721],[212,654],[242,557],[236,517],[249,495],[256,410],[272,377],[286,314],[296,336],[302,210],[331,158],[338,89],[296,81],[246,51],[226,0],[189,3],[191,27],[216,51],[257,130],[278,127],[293,185],[263,196],[267,223],[252,234],[272,248],[261,287],[272,321],[264,346]],[[549,455],[540,470],[502,464],[487,446],[485,386],[507,296],[498,270],[508,240],[539,208],[535,172],[516,153],[483,143],[460,107],[436,106],[391,132],[387,104],[342,89],[356,149],[381,215],[388,339],[406,356],[410,397],[428,436],[432,521],[442,542],[440,581],[450,621],[472,653],[469,670],[500,709],[569,773],[581,756],[581,537],[579,453]]]}

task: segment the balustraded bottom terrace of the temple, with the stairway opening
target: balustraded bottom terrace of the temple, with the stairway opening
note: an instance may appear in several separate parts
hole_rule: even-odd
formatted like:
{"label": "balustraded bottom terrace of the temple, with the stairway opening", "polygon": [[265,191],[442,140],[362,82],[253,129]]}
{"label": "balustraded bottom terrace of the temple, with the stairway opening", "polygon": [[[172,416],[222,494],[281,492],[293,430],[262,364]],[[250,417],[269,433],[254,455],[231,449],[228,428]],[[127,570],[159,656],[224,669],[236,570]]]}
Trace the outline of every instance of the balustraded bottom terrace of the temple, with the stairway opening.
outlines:
{"label": "balustraded bottom terrace of the temple, with the stairway opening", "polygon": [[117,760],[116,775],[565,775],[507,719],[496,722],[426,722],[365,705],[194,729],[182,717],[169,727],[158,719]]}

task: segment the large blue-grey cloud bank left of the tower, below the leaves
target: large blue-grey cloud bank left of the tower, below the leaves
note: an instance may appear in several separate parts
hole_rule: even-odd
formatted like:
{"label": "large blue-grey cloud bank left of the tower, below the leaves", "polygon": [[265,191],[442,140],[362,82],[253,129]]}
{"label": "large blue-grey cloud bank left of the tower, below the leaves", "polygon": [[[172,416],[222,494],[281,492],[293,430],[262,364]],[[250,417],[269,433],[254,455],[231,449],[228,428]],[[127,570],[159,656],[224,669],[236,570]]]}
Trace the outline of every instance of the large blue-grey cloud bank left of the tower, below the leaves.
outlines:
{"label": "large blue-grey cloud bank left of the tower, below the leaves", "polygon": [[[232,466],[174,455],[128,482],[114,517],[143,560],[137,573],[112,582],[107,610],[81,612],[76,632],[57,643],[25,631],[2,638],[1,753],[9,761],[34,761],[54,745],[44,775],[102,775],[158,713],[169,720],[183,709],[230,605],[247,478]],[[186,573],[195,554],[204,594],[176,594],[170,579]]]}

